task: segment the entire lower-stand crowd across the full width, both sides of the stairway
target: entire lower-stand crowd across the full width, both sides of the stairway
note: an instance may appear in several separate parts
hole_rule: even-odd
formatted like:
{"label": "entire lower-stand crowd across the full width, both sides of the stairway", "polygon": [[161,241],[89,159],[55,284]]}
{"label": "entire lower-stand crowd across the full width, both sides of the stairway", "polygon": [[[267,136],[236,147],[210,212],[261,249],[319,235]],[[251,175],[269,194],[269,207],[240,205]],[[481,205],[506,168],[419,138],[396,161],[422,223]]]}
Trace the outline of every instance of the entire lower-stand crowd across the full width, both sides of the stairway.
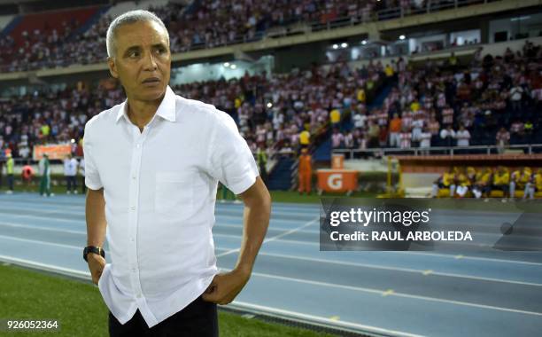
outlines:
{"label": "entire lower-stand crowd across the full width, both sides of the stairway", "polygon": [[[231,114],[254,153],[314,145],[328,125],[333,148],[504,147],[540,141],[535,132],[542,108],[540,58],[540,46],[527,42],[523,51],[477,55],[468,67],[453,56],[445,65],[428,60],[422,67],[398,59],[385,67],[377,61],[354,70],[339,62],[173,89]],[[392,86],[390,94],[382,106],[372,107],[383,85]],[[67,142],[81,155],[85,122],[123,99],[113,80],[92,89],[78,83],[4,99],[0,149],[9,147],[14,158],[29,158],[33,145]]]}

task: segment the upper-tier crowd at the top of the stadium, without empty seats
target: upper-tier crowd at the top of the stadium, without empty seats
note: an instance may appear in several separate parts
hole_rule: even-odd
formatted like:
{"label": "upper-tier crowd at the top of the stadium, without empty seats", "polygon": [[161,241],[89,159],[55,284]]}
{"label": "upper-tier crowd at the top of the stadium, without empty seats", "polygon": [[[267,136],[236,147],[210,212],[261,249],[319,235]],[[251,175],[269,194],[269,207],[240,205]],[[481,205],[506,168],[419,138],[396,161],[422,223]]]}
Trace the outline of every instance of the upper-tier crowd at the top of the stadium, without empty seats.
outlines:
{"label": "upper-tier crowd at the top of the stadium, without empty seats", "polygon": [[[339,18],[358,22],[372,19],[376,12],[386,9],[407,14],[445,4],[453,1],[197,0],[188,6],[168,3],[150,10],[164,20],[171,50],[182,52],[259,40],[272,27],[297,22],[325,24]],[[107,57],[105,32],[111,20],[109,15],[103,15],[82,33],[78,33],[78,28],[83,22],[65,20],[58,29],[44,23],[41,29],[23,30],[21,36],[0,35],[0,69],[13,72],[103,62]]]}

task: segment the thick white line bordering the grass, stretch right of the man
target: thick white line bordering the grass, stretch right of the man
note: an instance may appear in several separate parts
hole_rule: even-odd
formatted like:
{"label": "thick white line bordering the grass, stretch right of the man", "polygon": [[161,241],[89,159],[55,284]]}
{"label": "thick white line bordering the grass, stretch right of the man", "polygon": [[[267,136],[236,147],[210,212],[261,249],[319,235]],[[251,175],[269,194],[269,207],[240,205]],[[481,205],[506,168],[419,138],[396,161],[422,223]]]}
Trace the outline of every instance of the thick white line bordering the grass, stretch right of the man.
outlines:
{"label": "thick white line bordering the grass, stretch right of the man", "polygon": [[330,319],[328,317],[308,315],[308,314],[304,314],[298,311],[283,310],[283,309],[267,307],[267,306],[263,306],[259,304],[252,304],[248,302],[234,301],[228,305],[231,305],[232,307],[238,307],[239,309],[244,309],[244,310],[252,310],[252,311],[257,310],[263,313],[266,313],[266,312],[273,313],[273,314],[280,315],[283,317],[295,317],[298,319],[321,323],[324,325],[338,325],[347,329],[354,329],[354,330],[362,331],[365,333],[380,333],[387,336],[400,336],[400,337],[422,337],[422,334],[405,333],[402,331],[384,329],[384,328],[372,326],[372,325],[361,325],[358,323],[335,320],[335,319]]}

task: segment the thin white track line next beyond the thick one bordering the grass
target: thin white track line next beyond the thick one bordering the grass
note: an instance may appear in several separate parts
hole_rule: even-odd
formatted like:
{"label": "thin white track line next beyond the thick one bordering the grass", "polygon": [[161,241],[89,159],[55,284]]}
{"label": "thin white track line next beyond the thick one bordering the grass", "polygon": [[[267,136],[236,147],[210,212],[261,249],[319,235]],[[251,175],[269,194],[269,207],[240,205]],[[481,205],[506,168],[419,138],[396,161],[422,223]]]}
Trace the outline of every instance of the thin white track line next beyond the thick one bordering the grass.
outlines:
{"label": "thin white track line next beyond the thick one bordering the grass", "polygon": [[[0,235],[0,239],[4,238],[3,235]],[[5,238],[5,239],[13,239],[13,238]],[[66,248],[75,248],[80,249],[80,247],[74,247],[74,246],[67,246],[67,245],[59,245],[59,244],[51,244],[51,243],[44,243],[42,241],[37,240],[30,240],[30,239],[19,239],[21,241],[25,242],[31,242],[31,243],[41,243],[41,244],[47,244],[57,247],[66,247]],[[228,271],[231,269],[228,268],[220,268],[220,270]],[[281,279],[284,281],[290,281],[290,282],[296,282],[296,283],[303,283],[313,286],[325,286],[330,288],[339,288],[339,289],[345,289],[345,290],[353,290],[358,291],[361,293],[369,293],[369,294],[387,294],[387,290],[380,290],[375,288],[367,288],[367,287],[361,287],[361,286],[346,286],[346,285],[340,285],[336,283],[328,283],[328,282],[321,282],[321,281],[313,281],[313,280],[307,280],[307,279],[301,279],[301,278],[290,278],[285,276],[279,276],[279,275],[272,275],[267,273],[261,273],[261,272],[252,272],[253,276],[258,276],[261,278],[275,278],[275,279]],[[404,293],[393,293],[389,294],[390,296],[399,296],[399,297],[406,297],[411,298],[415,300],[422,300],[422,301],[429,301],[429,302],[443,302],[448,304],[455,304],[455,305],[462,305],[462,306],[468,306],[468,307],[474,307],[479,309],[487,309],[487,310],[499,310],[499,311],[506,311],[506,312],[514,312],[518,314],[524,314],[524,315],[534,315],[534,316],[540,316],[542,317],[542,312],[536,312],[536,311],[527,311],[527,310],[516,310],[511,308],[503,308],[503,307],[496,307],[492,305],[485,305],[485,304],[479,304],[479,303],[473,303],[473,302],[462,302],[462,301],[453,301],[453,300],[446,300],[441,299],[437,297],[429,297],[429,296],[422,296],[422,295],[414,295],[414,294],[404,294]]]}

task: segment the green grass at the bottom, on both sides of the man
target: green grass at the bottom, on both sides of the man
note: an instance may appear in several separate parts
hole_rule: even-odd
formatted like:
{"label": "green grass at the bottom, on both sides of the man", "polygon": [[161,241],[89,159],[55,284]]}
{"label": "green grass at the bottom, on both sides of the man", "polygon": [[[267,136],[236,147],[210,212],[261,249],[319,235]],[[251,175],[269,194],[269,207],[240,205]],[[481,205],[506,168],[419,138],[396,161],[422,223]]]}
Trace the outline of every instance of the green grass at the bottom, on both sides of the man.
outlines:
{"label": "green grass at the bottom, on both sides of the man", "polygon": [[[15,266],[0,265],[0,318],[56,319],[55,336],[107,336],[108,311],[97,286]],[[219,311],[221,336],[331,336]],[[2,334],[2,333],[0,333]],[[7,334],[7,333],[6,333]],[[42,333],[12,333],[15,336]]]}

